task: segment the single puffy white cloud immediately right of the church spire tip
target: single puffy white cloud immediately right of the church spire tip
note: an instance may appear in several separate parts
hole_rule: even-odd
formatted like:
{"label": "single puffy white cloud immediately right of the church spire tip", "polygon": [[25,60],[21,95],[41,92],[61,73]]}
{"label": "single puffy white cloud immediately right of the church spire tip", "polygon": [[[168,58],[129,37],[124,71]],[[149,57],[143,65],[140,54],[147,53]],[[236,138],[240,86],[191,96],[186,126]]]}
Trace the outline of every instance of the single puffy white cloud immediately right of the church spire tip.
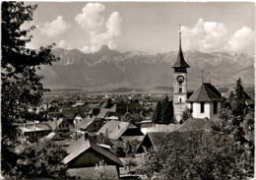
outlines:
{"label": "single puffy white cloud immediately right of the church spire tip", "polygon": [[224,48],[227,30],[221,23],[199,19],[193,28],[182,27],[181,30],[184,49],[219,51]]}

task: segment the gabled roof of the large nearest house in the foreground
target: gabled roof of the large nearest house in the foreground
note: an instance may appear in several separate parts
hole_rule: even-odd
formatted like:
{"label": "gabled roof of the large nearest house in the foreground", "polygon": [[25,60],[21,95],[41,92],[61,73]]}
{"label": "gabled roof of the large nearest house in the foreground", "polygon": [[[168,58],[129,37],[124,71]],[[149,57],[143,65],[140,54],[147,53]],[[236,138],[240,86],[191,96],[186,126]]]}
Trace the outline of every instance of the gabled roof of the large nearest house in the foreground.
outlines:
{"label": "gabled roof of the large nearest house in the foreground", "polygon": [[71,160],[78,157],[80,154],[89,149],[96,150],[96,152],[107,157],[114,163],[123,166],[121,160],[114,153],[110,152],[109,150],[104,150],[103,148],[97,146],[96,143],[93,140],[91,140],[90,137],[87,140],[85,140],[84,136],[82,136],[79,140],[73,142],[69,147],[67,147],[66,150],[68,152],[68,155],[63,159],[63,163],[69,163]]}

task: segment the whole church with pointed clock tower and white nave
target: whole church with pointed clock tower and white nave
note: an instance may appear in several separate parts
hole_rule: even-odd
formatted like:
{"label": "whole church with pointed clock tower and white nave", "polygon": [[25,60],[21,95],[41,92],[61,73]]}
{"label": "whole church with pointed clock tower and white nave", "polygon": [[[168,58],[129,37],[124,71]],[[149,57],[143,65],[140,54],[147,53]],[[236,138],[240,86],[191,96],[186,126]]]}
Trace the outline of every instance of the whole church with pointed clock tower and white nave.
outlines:
{"label": "whole church with pointed clock tower and white nave", "polygon": [[183,111],[188,108],[193,118],[218,118],[221,111],[222,93],[211,83],[204,83],[189,97],[187,91],[188,71],[190,66],[185,61],[181,48],[181,30],[179,30],[179,50],[173,64],[173,109],[174,118],[179,122]]}

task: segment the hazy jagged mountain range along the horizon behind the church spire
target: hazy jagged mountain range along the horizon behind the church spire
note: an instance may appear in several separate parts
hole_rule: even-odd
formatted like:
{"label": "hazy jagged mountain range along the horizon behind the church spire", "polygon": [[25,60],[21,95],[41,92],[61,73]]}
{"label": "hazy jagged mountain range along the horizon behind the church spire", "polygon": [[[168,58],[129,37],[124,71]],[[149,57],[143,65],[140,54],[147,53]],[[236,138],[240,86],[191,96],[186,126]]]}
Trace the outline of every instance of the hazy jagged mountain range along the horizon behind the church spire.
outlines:
{"label": "hazy jagged mountain range along the horizon behind the church spire", "polygon": [[[51,67],[40,70],[43,84],[51,88],[120,88],[120,87],[171,87],[177,51],[147,54],[140,51],[119,52],[106,45],[95,53],[83,53],[78,49],[53,49],[60,60]],[[226,52],[204,53],[187,51],[184,53],[188,69],[188,86],[195,89],[204,81],[216,86],[234,85],[238,78],[243,85],[254,83],[254,60],[248,54]]]}

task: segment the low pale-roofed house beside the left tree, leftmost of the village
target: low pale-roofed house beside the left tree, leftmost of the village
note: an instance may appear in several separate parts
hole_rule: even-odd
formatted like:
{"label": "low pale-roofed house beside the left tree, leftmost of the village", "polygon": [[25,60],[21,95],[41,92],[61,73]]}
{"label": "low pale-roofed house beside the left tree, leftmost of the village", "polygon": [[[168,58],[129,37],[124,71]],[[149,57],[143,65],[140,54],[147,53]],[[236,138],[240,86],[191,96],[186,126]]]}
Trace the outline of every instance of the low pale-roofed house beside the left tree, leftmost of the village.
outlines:
{"label": "low pale-roofed house beside the left tree, leftmost of the village", "polygon": [[18,126],[22,137],[30,142],[36,142],[42,137],[52,132],[51,127],[46,122],[25,123]]}

